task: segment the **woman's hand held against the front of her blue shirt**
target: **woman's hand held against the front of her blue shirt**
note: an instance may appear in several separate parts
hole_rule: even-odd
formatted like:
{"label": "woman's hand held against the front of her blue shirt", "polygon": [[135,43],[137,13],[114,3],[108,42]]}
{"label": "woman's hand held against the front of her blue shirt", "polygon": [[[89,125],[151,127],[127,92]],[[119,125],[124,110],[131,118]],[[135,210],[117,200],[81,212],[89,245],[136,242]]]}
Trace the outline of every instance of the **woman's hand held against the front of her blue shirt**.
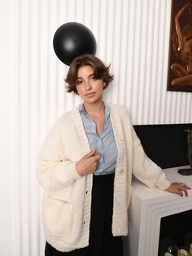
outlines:
{"label": "woman's hand held against the front of her blue shirt", "polygon": [[93,174],[98,167],[100,155],[91,150],[76,163],[76,171],[80,175]]}

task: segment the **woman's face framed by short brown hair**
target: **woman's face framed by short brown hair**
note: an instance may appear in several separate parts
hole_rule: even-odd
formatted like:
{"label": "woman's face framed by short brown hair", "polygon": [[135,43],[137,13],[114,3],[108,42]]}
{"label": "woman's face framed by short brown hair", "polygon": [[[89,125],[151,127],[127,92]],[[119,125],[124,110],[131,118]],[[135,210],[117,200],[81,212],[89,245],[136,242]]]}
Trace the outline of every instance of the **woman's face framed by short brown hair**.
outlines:
{"label": "woman's face framed by short brown hair", "polygon": [[85,65],[78,69],[76,79],[76,90],[85,104],[95,104],[103,100],[102,79],[94,77],[94,69]]}

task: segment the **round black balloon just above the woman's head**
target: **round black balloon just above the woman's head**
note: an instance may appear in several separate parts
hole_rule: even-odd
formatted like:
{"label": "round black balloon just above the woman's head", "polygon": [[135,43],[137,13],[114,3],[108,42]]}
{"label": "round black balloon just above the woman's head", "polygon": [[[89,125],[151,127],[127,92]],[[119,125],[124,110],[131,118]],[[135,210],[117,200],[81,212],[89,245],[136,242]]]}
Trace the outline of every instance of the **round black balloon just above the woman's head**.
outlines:
{"label": "round black balloon just above the woman's head", "polygon": [[79,55],[96,52],[94,34],[84,25],[77,22],[63,24],[55,32],[55,54],[64,64],[70,65]]}

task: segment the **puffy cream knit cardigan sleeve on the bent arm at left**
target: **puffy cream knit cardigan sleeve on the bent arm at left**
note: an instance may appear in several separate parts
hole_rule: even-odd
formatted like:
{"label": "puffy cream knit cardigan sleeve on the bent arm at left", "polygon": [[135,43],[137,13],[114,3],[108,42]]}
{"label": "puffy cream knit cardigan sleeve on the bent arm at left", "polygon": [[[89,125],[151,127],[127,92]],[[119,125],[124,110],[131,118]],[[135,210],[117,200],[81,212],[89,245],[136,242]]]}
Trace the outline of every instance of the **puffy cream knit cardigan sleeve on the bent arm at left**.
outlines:
{"label": "puffy cream knit cardigan sleeve on the bent arm at left", "polygon": [[59,190],[81,179],[76,171],[76,161],[64,156],[67,148],[64,147],[63,133],[68,132],[64,126],[68,126],[68,123],[64,117],[60,117],[46,136],[38,156],[37,178],[46,191]]}

